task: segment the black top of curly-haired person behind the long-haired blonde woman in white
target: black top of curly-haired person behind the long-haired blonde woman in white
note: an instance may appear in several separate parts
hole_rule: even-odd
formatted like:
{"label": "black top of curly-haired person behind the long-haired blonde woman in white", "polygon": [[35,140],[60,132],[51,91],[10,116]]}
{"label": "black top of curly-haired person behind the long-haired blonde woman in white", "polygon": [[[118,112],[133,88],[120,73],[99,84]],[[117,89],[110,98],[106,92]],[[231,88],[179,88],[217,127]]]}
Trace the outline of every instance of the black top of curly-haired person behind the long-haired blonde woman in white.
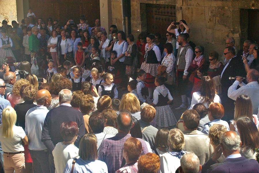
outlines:
{"label": "black top of curly-haired person behind the long-haired blonde woman in white", "polygon": [[25,115],[27,111],[37,105],[33,104],[33,101],[24,101],[23,103],[16,104],[14,110],[17,114],[16,126],[21,126],[25,129]]}

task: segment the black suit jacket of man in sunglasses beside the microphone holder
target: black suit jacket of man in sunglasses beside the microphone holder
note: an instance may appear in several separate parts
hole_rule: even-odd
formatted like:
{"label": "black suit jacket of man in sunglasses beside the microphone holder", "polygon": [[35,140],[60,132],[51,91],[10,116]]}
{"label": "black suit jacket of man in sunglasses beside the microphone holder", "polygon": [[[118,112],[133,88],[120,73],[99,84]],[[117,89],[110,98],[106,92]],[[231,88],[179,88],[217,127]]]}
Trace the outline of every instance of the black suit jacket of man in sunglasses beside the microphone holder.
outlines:
{"label": "black suit jacket of man in sunglasses beside the microphone holder", "polygon": [[222,74],[221,84],[222,84],[222,95],[228,93],[228,88],[233,84],[234,81],[229,80],[229,77],[243,76],[245,77],[245,68],[243,61],[236,56],[233,57]]}

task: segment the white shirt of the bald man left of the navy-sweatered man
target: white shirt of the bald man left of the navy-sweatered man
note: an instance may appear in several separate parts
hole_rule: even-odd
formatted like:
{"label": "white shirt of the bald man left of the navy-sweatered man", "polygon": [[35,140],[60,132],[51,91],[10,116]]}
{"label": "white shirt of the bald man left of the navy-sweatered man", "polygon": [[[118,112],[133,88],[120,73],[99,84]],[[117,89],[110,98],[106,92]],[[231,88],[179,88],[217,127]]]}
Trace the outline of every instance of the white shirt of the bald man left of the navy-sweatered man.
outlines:
{"label": "white shirt of the bald man left of the navy-sweatered man", "polygon": [[41,132],[45,117],[49,110],[42,105],[29,109],[25,115],[25,133],[28,136],[30,150],[46,150],[47,147],[41,142]]}

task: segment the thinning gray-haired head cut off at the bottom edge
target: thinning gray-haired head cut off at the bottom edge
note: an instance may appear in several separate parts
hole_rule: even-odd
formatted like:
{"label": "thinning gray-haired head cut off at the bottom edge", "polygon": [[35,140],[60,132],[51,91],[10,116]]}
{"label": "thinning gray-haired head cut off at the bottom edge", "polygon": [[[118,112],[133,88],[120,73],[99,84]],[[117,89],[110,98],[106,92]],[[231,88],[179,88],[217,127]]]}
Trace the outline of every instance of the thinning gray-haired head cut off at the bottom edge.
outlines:
{"label": "thinning gray-haired head cut off at the bottom edge", "polygon": [[180,163],[183,172],[199,172],[200,160],[193,152],[185,153],[180,159]]}

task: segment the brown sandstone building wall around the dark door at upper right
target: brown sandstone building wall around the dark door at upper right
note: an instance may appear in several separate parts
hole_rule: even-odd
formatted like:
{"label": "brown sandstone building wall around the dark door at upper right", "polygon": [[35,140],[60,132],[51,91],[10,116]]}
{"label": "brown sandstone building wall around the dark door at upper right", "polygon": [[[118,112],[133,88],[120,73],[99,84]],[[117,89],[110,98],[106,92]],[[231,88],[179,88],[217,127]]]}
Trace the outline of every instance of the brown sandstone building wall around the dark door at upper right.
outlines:
{"label": "brown sandstone building wall around the dark door at upper right", "polygon": [[[112,21],[122,29],[120,3],[112,0]],[[240,9],[259,9],[256,0],[131,0],[131,28],[135,37],[147,30],[145,8],[141,7],[145,3],[176,5],[177,20],[186,20],[191,28],[190,40],[204,46],[205,55],[212,50],[221,55],[226,37],[234,37],[240,48],[247,39],[247,29],[241,28],[241,23],[247,22],[247,13]]]}

